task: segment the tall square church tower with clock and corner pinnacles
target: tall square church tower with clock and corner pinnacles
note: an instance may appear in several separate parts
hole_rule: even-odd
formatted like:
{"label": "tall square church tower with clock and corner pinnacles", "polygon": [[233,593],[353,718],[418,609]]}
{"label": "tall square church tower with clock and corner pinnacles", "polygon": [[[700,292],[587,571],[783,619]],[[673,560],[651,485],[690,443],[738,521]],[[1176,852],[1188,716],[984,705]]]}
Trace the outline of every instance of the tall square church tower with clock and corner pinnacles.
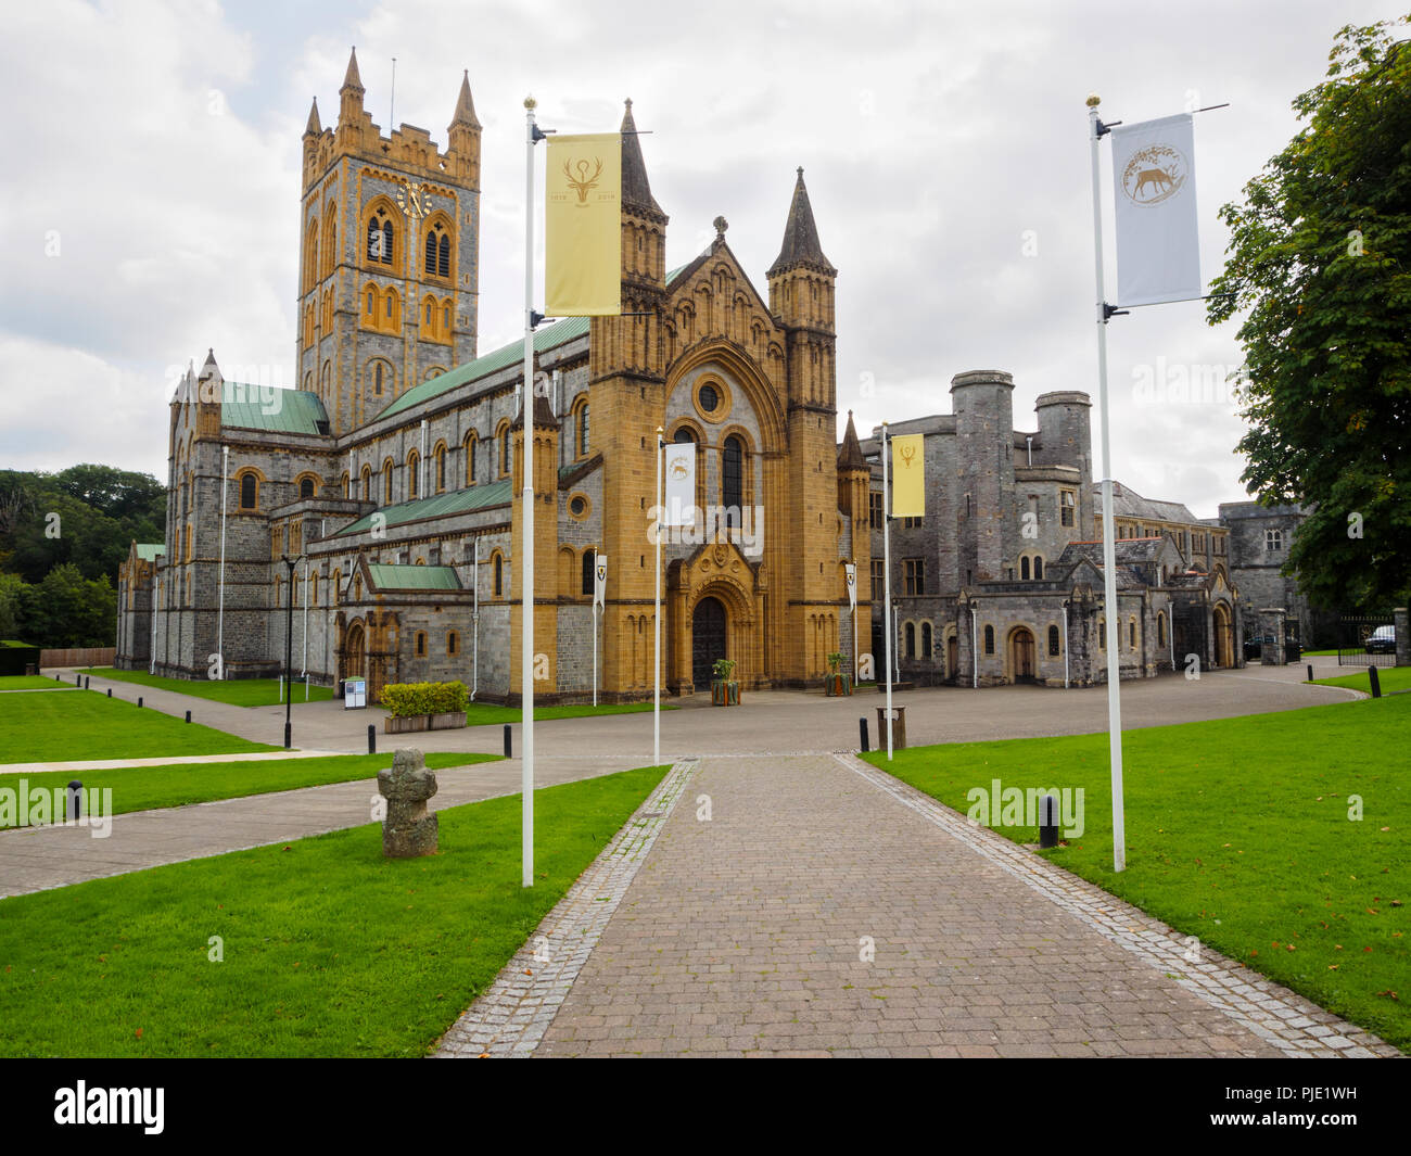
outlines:
{"label": "tall square church tower with clock and corner pinnacles", "polygon": [[315,100],[303,131],[298,385],[332,433],[476,357],[480,278],[480,121],[468,75],[439,152],[425,128],[389,137],[363,107],[357,54],[336,128]]}

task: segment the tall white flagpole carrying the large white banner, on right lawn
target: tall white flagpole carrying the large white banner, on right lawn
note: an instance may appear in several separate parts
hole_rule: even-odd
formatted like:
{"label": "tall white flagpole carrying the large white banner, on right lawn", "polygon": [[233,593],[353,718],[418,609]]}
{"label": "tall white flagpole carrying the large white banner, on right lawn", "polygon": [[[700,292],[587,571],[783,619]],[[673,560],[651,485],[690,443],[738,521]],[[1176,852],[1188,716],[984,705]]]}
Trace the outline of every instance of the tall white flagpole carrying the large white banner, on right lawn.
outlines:
{"label": "tall white flagpole carrying the large white banner, on right lawn", "polygon": [[1112,869],[1126,871],[1127,836],[1122,802],[1122,670],[1118,659],[1120,622],[1118,621],[1118,562],[1112,528],[1112,436],[1108,416],[1108,312],[1102,284],[1102,182],[1099,175],[1098,104],[1088,97],[1089,140],[1092,143],[1092,251],[1098,277],[1098,407],[1102,421],[1102,600],[1108,624],[1108,748],[1112,758]]}

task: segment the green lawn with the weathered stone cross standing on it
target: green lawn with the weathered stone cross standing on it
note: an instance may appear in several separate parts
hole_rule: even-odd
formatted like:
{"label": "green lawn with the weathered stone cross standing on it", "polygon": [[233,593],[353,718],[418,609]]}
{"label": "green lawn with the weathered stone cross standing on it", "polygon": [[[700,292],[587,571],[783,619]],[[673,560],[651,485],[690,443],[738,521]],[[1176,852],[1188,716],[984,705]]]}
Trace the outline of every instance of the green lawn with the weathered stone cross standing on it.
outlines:
{"label": "green lawn with the weathered stone cross standing on it", "polygon": [[538,792],[531,889],[508,796],[428,858],[367,824],[0,899],[0,1054],[422,1056],[666,771]]}

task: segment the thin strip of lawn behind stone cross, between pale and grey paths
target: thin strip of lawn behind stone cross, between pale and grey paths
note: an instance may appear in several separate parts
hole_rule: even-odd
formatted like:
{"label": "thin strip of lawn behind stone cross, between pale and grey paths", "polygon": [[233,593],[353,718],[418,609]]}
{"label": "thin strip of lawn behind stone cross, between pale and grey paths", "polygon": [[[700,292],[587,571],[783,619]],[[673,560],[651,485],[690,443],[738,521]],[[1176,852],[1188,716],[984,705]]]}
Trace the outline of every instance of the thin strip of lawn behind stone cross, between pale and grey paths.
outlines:
{"label": "thin strip of lawn behind stone cross, between pale and grey paths", "polygon": [[[502,755],[471,755],[432,751],[426,765],[432,769],[495,762]],[[85,789],[111,788],[113,814],[155,807],[181,807],[209,803],[213,799],[240,799],[272,790],[296,790],[301,786],[344,783],[371,779],[392,765],[392,752],[382,755],[330,755],[329,758],[272,759],[270,762],[192,762],[178,766],[131,766],[114,771],[42,771],[34,775],[0,776],[0,788],[18,786],[24,779],[30,790],[44,789],[52,799],[55,788],[69,785],[82,775]],[[17,826],[0,820],[0,829]]]}

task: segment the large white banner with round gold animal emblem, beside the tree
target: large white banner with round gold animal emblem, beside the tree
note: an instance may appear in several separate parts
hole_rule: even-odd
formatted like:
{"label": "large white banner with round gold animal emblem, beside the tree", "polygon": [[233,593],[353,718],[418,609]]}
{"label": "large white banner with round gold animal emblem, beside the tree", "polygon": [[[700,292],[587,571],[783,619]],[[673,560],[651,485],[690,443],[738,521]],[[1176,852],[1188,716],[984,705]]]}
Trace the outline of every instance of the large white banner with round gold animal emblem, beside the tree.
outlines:
{"label": "large white banner with round gold animal emblem, beside the tree", "polygon": [[1120,306],[1202,292],[1192,120],[1181,113],[1112,130]]}

